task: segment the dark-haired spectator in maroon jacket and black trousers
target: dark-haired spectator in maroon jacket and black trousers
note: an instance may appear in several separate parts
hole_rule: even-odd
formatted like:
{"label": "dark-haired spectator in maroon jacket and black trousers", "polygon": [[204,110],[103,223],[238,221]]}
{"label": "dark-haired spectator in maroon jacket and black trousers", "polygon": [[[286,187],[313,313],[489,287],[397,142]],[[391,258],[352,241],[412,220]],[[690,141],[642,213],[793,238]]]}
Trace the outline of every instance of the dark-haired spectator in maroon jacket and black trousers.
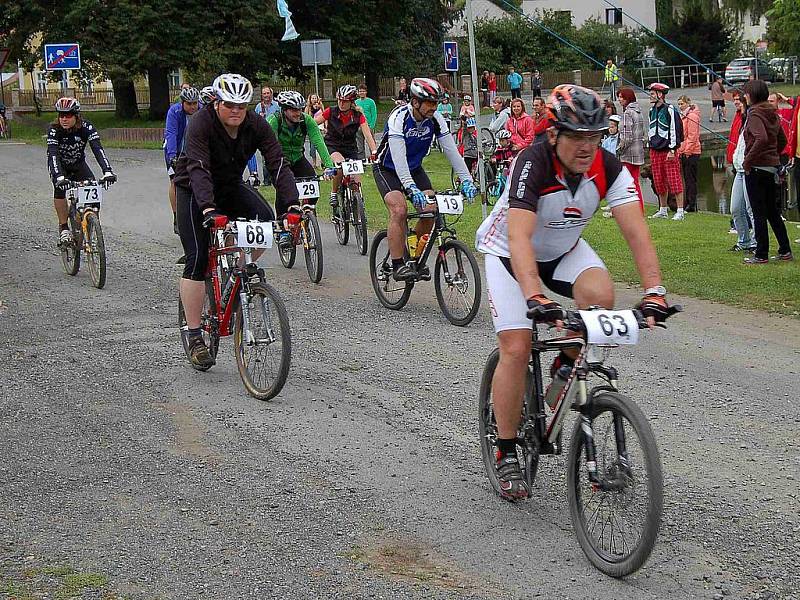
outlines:
{"label": "dark-haired spectator in maroon jacket and black trousers", "polygon": [[789,235],[778,208],[778,168],[780,152],[786,146],[786,136],[777,111],[769,103],[767,84],[760,79],[744,86],[745,99],[751,107],[744,125],[744,180],[747,196],[753,208],[753,228],[756,233],[756,252],[745,258],[749,265],[769,262],[769,230],[772,227],[778,240],[775,260],[792,260]]}

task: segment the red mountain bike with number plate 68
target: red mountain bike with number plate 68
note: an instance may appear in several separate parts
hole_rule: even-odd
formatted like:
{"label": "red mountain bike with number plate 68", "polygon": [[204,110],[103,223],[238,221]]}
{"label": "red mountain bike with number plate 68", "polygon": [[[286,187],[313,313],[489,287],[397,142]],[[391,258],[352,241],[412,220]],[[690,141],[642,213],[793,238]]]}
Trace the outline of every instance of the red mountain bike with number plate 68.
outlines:
{"label": "red mountain bike with number plate 68", "polygon": [[[272,236],[271,222],[217,218],[210,232],[206,297],[200,319],[203,341],[214,358],[220,337],[233,335],[239,375],[247,392],[259,400],[280,393],[292,357],[286,307],[253,256],[254,251],[272,247]],[[188,359],[189,326],[180,297],[178,326]]]}

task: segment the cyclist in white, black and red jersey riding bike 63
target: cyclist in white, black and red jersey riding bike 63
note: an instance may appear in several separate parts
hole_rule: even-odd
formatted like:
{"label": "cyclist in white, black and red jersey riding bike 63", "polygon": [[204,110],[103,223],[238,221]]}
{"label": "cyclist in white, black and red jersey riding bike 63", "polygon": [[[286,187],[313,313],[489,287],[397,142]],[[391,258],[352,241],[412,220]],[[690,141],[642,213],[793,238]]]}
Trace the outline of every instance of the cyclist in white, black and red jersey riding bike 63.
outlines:
{"label": "cyclist in white, black and red jersey riding bike 63", "polygon": [[[563,310],[543,285],[574,298],[579,308],[614,306],[614,286],[603,261],[581,232],[605,198],[631,249],[645,294],[640,309],[652,326],[669,308],[661,270],[633,178],[612,154],[599,149],[608,129],[603,102],[593,91],[557,86],[550,97],[546,143],[520,152],[506,191],[478,228],[476,246],[486,255],[489,308],[500,348],[492,382],[497,420],[497,473],[501,496],[530,493],[517,459],[516,437],[531,351],[530,314],[561,327]],[[575,355],[561,353],[551,375]]]}

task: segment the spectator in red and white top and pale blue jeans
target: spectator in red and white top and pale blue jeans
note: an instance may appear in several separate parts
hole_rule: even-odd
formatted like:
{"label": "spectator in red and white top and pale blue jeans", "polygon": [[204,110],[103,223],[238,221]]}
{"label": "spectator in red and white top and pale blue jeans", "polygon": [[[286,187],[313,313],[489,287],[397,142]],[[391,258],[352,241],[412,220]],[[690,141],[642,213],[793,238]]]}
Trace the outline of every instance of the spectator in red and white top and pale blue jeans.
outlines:
{"label": "spectator in red and white top and pale blue jeans", "polygon": [[731,217],[736,229],[736,243],[730,248],[731,252],[753,253],[756,243],[750,232],[753,222],[753,211],[750,209],[750,200],[747,198],[747,186],[744,182],[744,136],[742,129],[747,118],[747,101],[741,92],[733,92],[733,106],[736,113],[731,122],[731,132],[728,136],[728,151],[725,153],[725,162],[733,169],[733,186],[731,187]]}

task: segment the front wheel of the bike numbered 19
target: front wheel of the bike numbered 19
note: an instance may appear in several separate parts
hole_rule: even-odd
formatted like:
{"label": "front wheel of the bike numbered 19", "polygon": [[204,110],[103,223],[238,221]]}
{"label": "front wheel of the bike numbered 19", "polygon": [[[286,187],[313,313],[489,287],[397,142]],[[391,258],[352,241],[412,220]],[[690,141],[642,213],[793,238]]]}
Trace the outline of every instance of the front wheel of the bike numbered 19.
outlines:
{"label": "front wheel of the bike numbered 19", "polygon": [[436,301],[453,325],[469,325],[481,306],[481,272],[469,247],[450,239],[439,248],[434,271]]}

